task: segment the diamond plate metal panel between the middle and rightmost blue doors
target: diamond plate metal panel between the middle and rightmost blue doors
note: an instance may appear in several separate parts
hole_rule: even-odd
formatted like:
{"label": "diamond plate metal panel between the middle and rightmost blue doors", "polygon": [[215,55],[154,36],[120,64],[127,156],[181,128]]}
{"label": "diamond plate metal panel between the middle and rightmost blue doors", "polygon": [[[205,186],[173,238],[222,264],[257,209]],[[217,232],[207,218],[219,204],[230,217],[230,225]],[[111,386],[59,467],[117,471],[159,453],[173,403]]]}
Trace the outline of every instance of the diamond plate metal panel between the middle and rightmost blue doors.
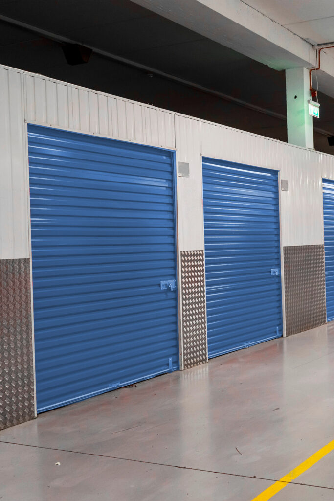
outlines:
{"label": "diamond plate metal panel between the middle and rightmost blue doors", "polygon": [[286,335],[326,323],[323,245],[284,247]]}

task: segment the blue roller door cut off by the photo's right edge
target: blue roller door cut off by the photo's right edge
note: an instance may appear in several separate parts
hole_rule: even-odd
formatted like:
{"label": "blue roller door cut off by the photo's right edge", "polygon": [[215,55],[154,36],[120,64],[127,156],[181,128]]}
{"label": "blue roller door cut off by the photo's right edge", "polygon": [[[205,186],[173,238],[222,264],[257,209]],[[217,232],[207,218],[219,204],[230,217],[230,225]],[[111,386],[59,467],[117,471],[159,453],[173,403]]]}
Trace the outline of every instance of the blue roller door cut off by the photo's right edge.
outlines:
{"label": "blue roller door cut off by the photo's right edge", "polygon": [[322,180],[327,322],[334,320],[334,181]]}

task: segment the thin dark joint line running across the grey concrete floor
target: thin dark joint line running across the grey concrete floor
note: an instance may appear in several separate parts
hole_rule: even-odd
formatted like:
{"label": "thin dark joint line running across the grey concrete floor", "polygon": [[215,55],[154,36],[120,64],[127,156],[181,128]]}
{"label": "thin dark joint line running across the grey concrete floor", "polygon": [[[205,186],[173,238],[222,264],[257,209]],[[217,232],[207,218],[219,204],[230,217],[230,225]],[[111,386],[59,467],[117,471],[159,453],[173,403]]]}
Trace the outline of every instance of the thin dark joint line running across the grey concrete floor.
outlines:
{"label": "thin dark joint line running across the grey concrete floor", "polygon": [[122,461],[133,461],[136,463],[143,463],[143,464],[155,464],[157,466],[167,466],[169,468],[179,468],[179,469],[187,469],[187,470],[192,470],[192,471],[203,471],[205,473],[216,473],[219,475],[230,475],[230,476],[238,476],[240,478],[252,478],[253,480],[267,480],[269,482],[282,482],[282,483],[289,483],[293,485],[303,485],[306,487],[316,487],[319,489],[329,489],[329,490],[334,490],[334,487],[325,487],[324,485],[313,485],[311,483],[302,483],[302,482],[286,482],[282,480],[277,480],[274,478],[264,478],[261,476],[252,476],[252,475],[241,475],[239,473],[228,473],[226,471],[215,471],[215,470],[207,470],[203,468],[192,468],[191,466],[178,466],[177,464],[168,464],[168,463],[158,463],[155,461],[144,461],[142,459],[130,459],[128,457],[118,457],[118,456],[110,456],[108,454],[97,454],[95,452],[84,452],[80,450],[70,450],[70,449],[58,449],[57,447],[46,447],[43,445],[32,445],[28,443],[19,443],[19,442],[7,442],[5,440],[0,440],[0,443],[8,443],[11,445],[22,445],[24,447],[36,447],[38,449],[46,449],[46,450],[58,450],[60,452],[70,452],[73,454],[83,454],[87,456],[95,456],[95,457],[108,457],[109,459],[120,459]]}

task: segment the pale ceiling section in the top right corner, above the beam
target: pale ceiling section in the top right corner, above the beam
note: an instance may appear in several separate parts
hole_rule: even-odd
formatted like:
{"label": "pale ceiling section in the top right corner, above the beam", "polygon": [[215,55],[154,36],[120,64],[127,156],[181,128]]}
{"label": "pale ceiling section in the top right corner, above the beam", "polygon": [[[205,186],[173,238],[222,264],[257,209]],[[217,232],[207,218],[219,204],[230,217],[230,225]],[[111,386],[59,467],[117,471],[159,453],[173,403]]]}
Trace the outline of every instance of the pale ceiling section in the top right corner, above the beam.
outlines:
{"label": "pale ceiling section in the top right corner, above the beam", "polygon": [[334,41],[333,0],[245,0],[244,3],[312,44]]}

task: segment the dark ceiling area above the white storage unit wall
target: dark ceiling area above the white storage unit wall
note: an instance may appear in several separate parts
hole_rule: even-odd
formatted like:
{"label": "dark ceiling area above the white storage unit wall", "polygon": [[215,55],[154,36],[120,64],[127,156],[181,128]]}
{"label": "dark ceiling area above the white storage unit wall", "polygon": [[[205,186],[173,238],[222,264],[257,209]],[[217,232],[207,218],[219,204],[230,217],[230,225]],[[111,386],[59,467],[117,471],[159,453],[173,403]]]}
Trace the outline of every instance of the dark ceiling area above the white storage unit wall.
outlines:
{"label": "dark ceiling area above the white storage unit wall", "polygon": [[[67,64],[62,43],[0,21],[0,63],[110,94],[150,103],[286,141],[283,118],[223,99],[211,89],[286,115],[284,72],[168,21],[128,0],[0,0],[0,15],[106,51],[194,84],[93,53],[88,64]],[[334,134],[334,100],[319,94],[317,128]],[[315,120],[315,119],[314,119]],[[315,148],[334,153],[315,133]]]}

